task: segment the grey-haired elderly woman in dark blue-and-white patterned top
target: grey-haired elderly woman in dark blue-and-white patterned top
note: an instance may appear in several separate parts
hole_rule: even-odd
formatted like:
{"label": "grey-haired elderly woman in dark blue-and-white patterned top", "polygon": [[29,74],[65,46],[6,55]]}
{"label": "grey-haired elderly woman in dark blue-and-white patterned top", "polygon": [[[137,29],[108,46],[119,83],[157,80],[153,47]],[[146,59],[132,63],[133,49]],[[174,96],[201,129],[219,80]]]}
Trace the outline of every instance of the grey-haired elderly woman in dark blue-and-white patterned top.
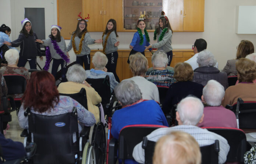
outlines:
{"label": "grey-haired elderly woman in dark blue-and-white patterned top", "polygon": [[166,52],[162,50],[156,51],[152,55],[151,62],[153,64],[153,70],[146,72],[145,79],[156,85],[165,87],[169,87],[171,84],[175,83],[173,77],[174,71],[166,69],[168,63]]}

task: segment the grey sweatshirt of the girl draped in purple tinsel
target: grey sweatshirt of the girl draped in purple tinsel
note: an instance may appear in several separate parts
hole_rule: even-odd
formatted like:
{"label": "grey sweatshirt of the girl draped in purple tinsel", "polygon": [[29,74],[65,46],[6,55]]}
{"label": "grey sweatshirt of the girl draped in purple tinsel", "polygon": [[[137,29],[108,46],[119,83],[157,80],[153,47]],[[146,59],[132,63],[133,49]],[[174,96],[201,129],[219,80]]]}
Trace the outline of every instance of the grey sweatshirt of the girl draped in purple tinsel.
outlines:
{"label": "grey sweatshirt of the girl draped in purple tinsel", "polygon": [[[44,46],[49,46],[50,52],[51,52],[51,57],[53,59],[62,59],[60,57],[60,55],[56,52],[56,50],[54,49],[53,44],[51,43],[51,39],[48,37],[46,40],[42,40],[43,41],[43,45]],[[64,52],[64,54],[66,55],[67,52],[67,47],[66,47],[66,43],[64,38],[61,36],[60,37],[60,42],[56,42],[58,44],[58,46],[60,47],[61,51]]]}

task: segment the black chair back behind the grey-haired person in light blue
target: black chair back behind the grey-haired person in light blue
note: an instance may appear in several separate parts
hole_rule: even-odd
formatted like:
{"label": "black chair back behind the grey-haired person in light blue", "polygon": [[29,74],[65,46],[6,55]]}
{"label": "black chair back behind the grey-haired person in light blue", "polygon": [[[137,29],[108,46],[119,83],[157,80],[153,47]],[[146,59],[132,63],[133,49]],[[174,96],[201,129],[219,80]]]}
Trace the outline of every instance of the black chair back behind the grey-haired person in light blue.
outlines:
{"label": "black chair back behind the grey-haired person in light blue", "polygon": [[98,94],[102,98],[101,103],[102,103],[102,106],[104,109],[104,113],[107,113],[106,105],[107,105],[107,103],[109,103],[109,100],[111,97],[109,75],[107,75],[103,79],[87,78],[86,81],[95,89],[96,92],[98,92]]}

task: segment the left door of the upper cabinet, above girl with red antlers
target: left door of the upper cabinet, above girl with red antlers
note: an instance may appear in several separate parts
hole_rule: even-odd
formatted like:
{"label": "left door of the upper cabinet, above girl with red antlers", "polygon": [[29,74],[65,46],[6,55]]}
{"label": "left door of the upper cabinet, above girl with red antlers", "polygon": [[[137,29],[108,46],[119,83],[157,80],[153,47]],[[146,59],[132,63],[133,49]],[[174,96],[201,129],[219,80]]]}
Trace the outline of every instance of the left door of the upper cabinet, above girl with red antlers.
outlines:
{"label": "left door of the upper cabinet, above girl with red antlers", "polygon": [[89,14],[87,29],[91,31],[103,30],[103,0],[83,0],[83,18]]}

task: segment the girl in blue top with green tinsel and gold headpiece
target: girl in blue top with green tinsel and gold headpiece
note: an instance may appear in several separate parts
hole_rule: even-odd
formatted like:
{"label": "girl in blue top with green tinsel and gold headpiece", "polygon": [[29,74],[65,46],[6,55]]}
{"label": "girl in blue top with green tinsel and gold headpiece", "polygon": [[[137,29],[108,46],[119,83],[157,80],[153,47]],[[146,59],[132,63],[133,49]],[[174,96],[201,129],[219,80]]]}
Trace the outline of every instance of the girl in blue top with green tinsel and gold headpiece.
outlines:
{"label": "girl in blue top with green tinsel and gold headpiece", "polygon": [[[130,44],[130,48],[132,49],[130,55],[135,54],[136,52],[141,52],[145,56],[145,47],[149,46],[149,34],[147,33],[147,30],[145,29],[146,23],[145,23],[145,15],[141,15],[140,19],[137,22],[137,32],[134,33],[134,37],[132,38],[132,43]],[[149,48],[149,51],[153,53],[152,48]],[[130,63],[128,58],[128,63]]]}

